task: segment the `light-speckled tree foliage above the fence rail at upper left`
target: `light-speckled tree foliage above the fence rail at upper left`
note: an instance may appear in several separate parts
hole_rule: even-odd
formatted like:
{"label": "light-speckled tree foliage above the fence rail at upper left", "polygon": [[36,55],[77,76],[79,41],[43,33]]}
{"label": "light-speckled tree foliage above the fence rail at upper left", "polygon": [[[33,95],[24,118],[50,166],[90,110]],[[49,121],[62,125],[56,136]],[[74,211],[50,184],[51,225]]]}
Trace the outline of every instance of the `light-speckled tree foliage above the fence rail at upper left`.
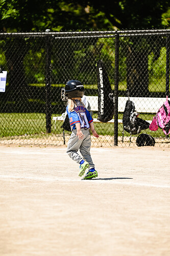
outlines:
{"label": "light-speckled tree foliage above the fence rail at upper left", "polygon": [[111,23],[93,7],[61,0],[1,0],[0,30],[6,32],[107,29]]}

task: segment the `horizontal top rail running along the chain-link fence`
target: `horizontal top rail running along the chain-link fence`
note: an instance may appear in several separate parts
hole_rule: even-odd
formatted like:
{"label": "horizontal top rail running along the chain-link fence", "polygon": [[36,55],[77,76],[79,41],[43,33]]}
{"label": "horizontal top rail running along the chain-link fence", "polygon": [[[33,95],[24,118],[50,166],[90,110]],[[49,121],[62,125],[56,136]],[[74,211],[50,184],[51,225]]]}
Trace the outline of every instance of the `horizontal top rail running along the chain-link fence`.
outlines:
{"label": "horizontal top rail running along the chain-link fence", "polygon": [[0,33],[0,36],[15,37],[15,36],[113,36],[119,34],[120,36],[135,36],[135,35],[152,35],[152,34],[169,34],[170,29],[152,29],[152,30],[115,30],[115,31],[70,31],[70,32],[14,32],[14,33]]}

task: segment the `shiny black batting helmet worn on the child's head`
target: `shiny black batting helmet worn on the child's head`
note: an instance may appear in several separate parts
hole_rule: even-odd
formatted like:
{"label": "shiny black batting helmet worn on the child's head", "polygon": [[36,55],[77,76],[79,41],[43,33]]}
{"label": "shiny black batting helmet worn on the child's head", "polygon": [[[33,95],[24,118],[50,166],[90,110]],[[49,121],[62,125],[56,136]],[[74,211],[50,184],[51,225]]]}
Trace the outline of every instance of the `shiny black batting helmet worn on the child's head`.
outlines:
{"label": "shiny black batting helmet worn on the child's head", "polygon": [[70,98],[82,98],[84,95],[84,86],[78,80],[69,80],[65,84],[65,88],[61,90],[62,100]]}

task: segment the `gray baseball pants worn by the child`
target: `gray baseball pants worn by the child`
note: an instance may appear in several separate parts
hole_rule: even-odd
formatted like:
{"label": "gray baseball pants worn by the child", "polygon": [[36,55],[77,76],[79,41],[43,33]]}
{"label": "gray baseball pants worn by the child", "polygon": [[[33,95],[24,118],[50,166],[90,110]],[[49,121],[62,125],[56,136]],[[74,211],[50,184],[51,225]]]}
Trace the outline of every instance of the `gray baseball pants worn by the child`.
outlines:
{"label": "gray baseball pants worn by the child", "polygon": [[[84,138],[82,140],[79,140],[78,136],[76,136],[77,130],[72,130],[72,133],[68,140],[66,152],[68,156],[77,163],[80,163],[82,160],[87,161],[91,169],[94,168],[94,164],[90,155],[91,135],[89,129],[85,130],[82,128],[81,131],[84,135]],[[78,150],[80,150],[80,153],[83,158],[78,154]]]}

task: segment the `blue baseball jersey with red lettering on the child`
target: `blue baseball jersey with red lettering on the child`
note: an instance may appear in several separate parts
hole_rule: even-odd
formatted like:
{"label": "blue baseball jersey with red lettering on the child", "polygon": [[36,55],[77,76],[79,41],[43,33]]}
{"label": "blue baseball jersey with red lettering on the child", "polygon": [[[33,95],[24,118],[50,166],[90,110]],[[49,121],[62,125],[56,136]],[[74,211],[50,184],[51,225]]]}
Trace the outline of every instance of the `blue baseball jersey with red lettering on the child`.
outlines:
{"label": "blue baseball jersey with red lettering on the child", "polygon": [[76,100],[76,104],[74,110],[71,112],[68,112],[68,106],[66,108],[71,131],[76,129],[76,123],[80,123],[81,128],[88,129],[90,127],[89,123],[91,123],[93,119],[80,100]]}

